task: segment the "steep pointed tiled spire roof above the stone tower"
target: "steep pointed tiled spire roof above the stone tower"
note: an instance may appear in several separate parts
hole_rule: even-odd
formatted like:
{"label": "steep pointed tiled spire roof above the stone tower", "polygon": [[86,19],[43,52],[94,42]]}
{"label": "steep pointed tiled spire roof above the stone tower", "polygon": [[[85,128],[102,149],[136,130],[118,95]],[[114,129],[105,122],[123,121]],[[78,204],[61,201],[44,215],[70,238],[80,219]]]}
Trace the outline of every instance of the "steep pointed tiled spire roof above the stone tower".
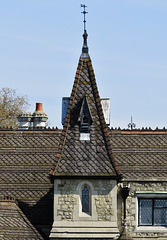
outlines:
{"label": "steep pointed tiled spire roof above the stone tower", "polygon": [[[82,54],[60,138],[58,164],[52,167],[50,174],[59,177],[118,177],[120,170],[112,153],[95,74],[88,54],[86,30],[83,38]],[[86,116],[90,127],[90,140],[80,140],[81,114]]]}

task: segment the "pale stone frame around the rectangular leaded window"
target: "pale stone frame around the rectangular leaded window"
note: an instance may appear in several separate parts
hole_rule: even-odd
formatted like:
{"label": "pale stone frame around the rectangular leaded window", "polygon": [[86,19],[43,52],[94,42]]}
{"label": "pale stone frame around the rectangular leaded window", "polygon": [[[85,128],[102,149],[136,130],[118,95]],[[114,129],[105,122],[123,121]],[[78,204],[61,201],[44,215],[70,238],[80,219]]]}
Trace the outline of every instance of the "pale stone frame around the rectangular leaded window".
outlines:
{"label": "pale stone frame around the rectangular leaded window", "polygon": [[167,192],[163,191],[137,191],[136,192],[136,232],[165,232],[167,233],[167,226],[165,225],[139,225],[139,199],[167,199]]}

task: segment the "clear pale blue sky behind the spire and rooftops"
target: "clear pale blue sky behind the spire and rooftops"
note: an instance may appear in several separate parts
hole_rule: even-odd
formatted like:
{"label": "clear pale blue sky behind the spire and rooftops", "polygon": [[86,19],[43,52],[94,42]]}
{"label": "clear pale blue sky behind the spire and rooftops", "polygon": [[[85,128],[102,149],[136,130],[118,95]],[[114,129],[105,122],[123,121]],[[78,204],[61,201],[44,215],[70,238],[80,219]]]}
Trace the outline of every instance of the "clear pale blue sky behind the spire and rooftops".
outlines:
{"label": "clear pale blue sky behind the spire and rooftops", "polygon": [[82,49],[83,16],[101,97],[111,99],[111,127],[167,127],[166,0],[0,1],[0,87],[43,102],[61,127]]}

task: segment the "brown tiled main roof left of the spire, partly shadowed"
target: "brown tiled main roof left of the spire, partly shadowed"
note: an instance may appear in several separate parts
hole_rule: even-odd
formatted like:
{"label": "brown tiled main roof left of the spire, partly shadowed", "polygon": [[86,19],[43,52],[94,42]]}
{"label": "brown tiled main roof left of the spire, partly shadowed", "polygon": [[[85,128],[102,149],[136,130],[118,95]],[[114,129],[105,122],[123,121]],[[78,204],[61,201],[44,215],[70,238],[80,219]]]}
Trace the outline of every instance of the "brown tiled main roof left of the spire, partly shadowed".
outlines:
{"label": "brown tiled main roof left of the spire, partly shadowed", "polygon": [[51,225],[51,166],[59,130],[0,130],[0,197],[12,196],[33,224]]}

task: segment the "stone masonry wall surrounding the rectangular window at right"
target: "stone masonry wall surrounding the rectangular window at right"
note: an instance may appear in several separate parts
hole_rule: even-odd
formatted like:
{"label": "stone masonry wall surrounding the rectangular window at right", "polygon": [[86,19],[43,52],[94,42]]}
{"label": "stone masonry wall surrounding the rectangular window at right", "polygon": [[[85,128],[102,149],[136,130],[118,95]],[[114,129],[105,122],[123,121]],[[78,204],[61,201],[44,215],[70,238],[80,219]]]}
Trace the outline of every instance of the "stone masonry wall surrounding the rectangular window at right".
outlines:
{"label": "stone masonry wall surrounding the rectangular window at right", "polygon": [[[120,187],[120,186],[119,186]],[[165,240],[166,226],[139,226],[138,198],[167,198],[167,182],[131,182],[127,198],[126,226],[128,234],[135,240]]]}

